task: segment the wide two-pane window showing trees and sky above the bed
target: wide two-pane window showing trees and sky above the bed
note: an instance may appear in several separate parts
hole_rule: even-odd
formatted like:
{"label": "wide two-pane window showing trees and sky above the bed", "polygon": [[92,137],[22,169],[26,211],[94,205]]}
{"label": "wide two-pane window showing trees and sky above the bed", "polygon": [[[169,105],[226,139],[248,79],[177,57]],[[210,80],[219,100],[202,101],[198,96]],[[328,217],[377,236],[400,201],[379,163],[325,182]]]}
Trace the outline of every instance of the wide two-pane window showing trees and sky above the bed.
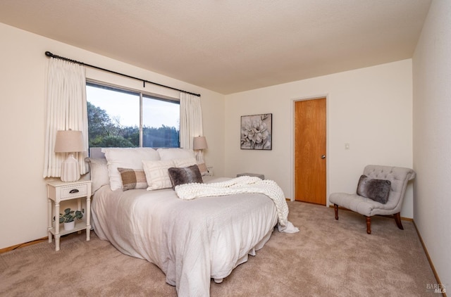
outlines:
{"label": "wide two-pane window showing trees and sky above the bed", "polygon": [[180,147],[180,102],[88,82],[89,148]]}

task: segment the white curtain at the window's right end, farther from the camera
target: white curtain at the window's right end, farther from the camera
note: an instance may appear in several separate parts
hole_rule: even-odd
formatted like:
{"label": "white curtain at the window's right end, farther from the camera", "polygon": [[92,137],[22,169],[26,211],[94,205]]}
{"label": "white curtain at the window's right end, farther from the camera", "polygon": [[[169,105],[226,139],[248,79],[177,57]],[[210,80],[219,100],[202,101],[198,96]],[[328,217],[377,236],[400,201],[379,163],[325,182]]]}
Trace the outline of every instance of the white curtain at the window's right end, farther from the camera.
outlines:
{"label": "white curtain at the window's right end, farther from the camera", "polygon": [[200,97],[180,93],[180,147],[192,149],[193,137],[203,132]]}

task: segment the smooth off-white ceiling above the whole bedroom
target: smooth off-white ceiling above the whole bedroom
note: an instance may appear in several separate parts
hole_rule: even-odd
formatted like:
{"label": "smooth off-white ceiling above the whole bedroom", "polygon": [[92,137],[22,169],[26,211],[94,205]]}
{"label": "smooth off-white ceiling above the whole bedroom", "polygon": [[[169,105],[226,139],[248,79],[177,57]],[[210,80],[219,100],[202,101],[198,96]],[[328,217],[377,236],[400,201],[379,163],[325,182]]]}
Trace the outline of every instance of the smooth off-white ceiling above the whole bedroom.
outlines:
{"label": "smooth off-white ceiling above the whole bedroom", "polygon": [[430,4],[0,0],[0,23],[232,94],[412,58]]}

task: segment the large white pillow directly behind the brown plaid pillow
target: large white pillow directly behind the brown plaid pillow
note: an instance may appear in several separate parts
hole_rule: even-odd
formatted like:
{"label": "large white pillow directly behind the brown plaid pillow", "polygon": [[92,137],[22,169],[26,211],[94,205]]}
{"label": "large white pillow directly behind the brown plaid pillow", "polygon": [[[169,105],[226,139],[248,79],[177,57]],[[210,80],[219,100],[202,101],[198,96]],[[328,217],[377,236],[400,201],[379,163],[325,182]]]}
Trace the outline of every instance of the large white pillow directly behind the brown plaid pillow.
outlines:
{"label": "large white pillow directly behind the brown plaid pillow", "polygon": [[108,164],[111,190],[122,189],[121,173],[118,168],[143,169],[142,160],[159,160],[154,148],[102,148]]}

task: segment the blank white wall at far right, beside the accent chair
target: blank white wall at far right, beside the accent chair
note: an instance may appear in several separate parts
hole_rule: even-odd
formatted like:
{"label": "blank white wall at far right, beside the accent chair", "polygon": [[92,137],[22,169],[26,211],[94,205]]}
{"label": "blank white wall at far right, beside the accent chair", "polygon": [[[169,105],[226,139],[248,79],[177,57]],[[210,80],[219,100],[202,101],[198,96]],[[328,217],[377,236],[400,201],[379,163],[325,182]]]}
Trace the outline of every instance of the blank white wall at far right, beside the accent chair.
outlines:
{"label": "blank white wall at far right, beside the accent chair", "polygon": [[[433,0],[413,58],[414,218],[447,291],[451,286],[451,2]],[[448,293],[449,294],[449,293]]]}

